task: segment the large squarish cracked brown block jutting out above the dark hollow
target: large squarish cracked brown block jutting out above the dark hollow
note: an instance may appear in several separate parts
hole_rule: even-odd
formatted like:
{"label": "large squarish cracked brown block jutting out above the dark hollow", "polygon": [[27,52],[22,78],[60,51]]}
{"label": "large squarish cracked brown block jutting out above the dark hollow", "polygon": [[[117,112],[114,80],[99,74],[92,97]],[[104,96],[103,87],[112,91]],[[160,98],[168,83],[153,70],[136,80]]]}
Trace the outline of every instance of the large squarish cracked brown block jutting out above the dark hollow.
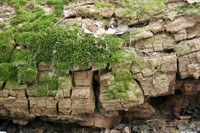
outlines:
{"label": "large squarish cracked brown block jutting out above the dark hollow", "polygon": [[174,93],[174,84],[177,72],[177,57],[175,54],[152,54],[143,58],[143,65],[131,68],[134,78],[137,79],[145,96],[160,96]]}

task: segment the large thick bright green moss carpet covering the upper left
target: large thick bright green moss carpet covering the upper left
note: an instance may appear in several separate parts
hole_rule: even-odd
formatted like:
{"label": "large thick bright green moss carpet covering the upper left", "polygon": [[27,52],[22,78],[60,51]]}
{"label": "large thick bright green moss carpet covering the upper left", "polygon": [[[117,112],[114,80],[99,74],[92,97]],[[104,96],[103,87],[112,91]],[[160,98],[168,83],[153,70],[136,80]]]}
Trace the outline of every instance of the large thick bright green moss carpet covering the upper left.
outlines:
{"label": "large thick bright green moss carpet covering the upper left", "polygon": [[[46,15],[38,4],[54,11]],[[31,85],[30,96],[55,96],[57,76],[80,69],[102,69],[122,61],[124,39],[88,36],[77,25],[55,25],[67,1],[7,0],[16,16],[0,32],[0,80]],[[53,77],[40,76],[37,65],[52,62]],[[55,76],[57,75],[57,76]]]}

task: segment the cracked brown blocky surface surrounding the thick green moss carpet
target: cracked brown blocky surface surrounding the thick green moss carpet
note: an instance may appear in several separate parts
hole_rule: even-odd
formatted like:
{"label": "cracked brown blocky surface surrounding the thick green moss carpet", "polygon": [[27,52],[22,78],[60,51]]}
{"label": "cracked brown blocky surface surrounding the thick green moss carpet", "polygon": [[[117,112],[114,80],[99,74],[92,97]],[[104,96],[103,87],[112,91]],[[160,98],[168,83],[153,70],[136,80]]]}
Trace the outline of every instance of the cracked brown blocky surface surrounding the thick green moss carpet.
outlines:
{"label": "cracked brown blocky surface surrounding the thick green moss carpet", "polygon": [[[119,1],[104,2],[116,4]],[[177,90],[181,90],[180,96],[169,96],[159,107],[164,114],[172,107],[175,107],[174,113],[180,113],[190,103],[188,96],[200,92],[200,19],[169,11],[184,6],[185,2],[168,2],[169,18],[164,22],[156,9],[141,15],[138,11],[126,14],[129,9],[124,8],[97,9],[93,1],[66,6],[60,24],[77,23],[86,34],[95,37],[127,32],[128,43],[119,46],[124,50],[123,61],[99,70],[59,75],[56,84],[51,84],[55,76],[51,61],[37,66],[38,81],[42,84],[13,84],[0,79],[0,117],[20,124],[39,117],[109,128],[122,118],[153,117],[158,112],[148,100],[173,95]],[[9,26],[9,14],[14,15],[14,9],[2,7],[0,23]],[[53,9],[46,5],[42,8],[46,14]],[[20,46],[16,47],[21,50]],[[46,81],[45,76],[52,80]]]}

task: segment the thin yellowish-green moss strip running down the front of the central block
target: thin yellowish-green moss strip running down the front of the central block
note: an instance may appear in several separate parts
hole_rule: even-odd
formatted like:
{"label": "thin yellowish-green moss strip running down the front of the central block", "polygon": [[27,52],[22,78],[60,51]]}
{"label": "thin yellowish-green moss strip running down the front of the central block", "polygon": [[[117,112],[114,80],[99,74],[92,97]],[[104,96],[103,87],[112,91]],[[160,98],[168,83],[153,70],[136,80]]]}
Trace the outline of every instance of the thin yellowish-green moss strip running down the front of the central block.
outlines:
{"label": "thin yellowish-green moss strip running down the front of the central block", "polygon": [[[123,50],[123,62],[112,67],[114,75],[114,84],[109,86],[108,92],[105,93],[106,99],[127,99],[130,98],[128,92],[137,89],[137,83],[133,80],[130,67],[136,58],[134,49]],[[135,84],[133,86],[133,84]]]}

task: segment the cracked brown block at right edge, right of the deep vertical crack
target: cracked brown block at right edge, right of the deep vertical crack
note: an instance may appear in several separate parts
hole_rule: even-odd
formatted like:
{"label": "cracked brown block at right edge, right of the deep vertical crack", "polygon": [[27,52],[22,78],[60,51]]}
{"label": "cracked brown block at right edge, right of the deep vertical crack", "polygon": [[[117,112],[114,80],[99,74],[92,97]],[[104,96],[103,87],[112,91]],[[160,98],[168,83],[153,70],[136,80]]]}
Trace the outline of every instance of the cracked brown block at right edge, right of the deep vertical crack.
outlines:
{"label": "cracked brown block at right edge, right of the deep vertical crack", "polygon": [[182,41],[176,46],[178,62],[179,62],[179,75],[182,79],[187,77],[194,77],[198,79],[200,76],[200,38],[195,38],[188,41]]}

